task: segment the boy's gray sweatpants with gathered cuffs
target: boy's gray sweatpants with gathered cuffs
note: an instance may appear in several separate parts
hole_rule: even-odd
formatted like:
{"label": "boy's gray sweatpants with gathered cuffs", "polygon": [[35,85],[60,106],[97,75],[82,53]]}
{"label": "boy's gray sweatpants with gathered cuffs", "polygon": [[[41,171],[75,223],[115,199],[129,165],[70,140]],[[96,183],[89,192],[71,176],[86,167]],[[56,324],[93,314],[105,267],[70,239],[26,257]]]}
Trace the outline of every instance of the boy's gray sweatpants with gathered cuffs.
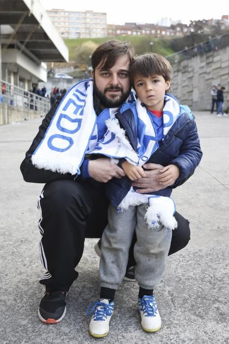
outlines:
{"label": "boy's gray sweatpants with gathered cuffs", "polygon": [[149,229],[144,215],[147,204],[118,213],[111,204],[108,208],[108,225],[102,234],[100,260],[101,287],[117,289],[127,268],[129,247],[134,230],[137,242],[134,246],[136,260],[135,279],[140,287],[154,289],[164,273],[172,238],[172,230],[160,226]]}

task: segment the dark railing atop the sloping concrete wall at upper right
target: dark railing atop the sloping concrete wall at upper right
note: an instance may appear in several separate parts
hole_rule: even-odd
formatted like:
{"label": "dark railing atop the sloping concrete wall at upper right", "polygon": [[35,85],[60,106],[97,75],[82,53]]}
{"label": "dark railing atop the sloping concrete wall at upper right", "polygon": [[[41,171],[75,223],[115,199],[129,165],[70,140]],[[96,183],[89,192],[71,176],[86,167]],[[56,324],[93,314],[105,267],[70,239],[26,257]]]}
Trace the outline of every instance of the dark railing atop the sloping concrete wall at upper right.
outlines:
{"label": "dark railing atop the sloping concrete wall at upper right", "polygon": [[229,32],[215,38],[209,38],[207,41],[195,44],[192,47],[186,47],[183,50],[166,56],[166,59],[170,63],[178,63],[198,55],[203,56],[204,54],[217,51],[227,46],[229,46]]}

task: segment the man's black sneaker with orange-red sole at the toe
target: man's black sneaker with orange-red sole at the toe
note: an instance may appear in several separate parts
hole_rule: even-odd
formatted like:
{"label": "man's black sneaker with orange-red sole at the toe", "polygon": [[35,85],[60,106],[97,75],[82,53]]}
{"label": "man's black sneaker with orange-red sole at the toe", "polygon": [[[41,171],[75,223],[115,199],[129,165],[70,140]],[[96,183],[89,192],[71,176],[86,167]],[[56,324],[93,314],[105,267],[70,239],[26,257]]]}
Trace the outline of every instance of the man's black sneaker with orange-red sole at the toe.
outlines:
{"label": "man's black sneaker with orange-red sole at the toe", "polygon": [[66,314],[66,296],[68,291],[46,291],[38,308],[39,319],[46,324],[56,324]]}

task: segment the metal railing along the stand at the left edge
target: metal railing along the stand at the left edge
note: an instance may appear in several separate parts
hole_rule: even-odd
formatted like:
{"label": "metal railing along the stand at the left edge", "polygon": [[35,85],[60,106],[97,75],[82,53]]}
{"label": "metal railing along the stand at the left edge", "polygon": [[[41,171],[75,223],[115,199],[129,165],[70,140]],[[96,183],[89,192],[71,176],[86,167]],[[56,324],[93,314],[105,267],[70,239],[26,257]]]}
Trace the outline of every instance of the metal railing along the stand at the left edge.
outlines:
{"label": "metal railing along the stand at the left edge", "polygon": [[8,104],[23,109],[38,111],[46,115],[50,110],[50,100],[36,93],[0,80],[0,104]]}

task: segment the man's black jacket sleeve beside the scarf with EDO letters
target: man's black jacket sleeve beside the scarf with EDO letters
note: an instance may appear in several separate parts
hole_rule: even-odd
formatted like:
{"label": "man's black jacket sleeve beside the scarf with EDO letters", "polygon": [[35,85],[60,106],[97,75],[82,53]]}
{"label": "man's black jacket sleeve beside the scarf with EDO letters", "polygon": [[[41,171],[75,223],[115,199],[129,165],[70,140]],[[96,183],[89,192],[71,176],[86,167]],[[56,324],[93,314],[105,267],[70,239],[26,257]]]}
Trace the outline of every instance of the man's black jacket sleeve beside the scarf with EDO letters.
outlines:
{"label": "man's black jacket sleeve beside the scarf with EDO letters", "polygon": [[37,146],[39,145],[39,143],[44,138],[46,130],[47,130],[47,128],[51,122],[53,115],[55,114],[55,111],[56,111],[56,109],[60,103],[60,100],[57,100],[55,102],[55,104],[51,107],[48,114],[43,119],[43,121],[39,127],[39,131],[38,131],[37,135],[35,136],[31,146],[29,147],[29,149],[25,153],[25,159],[23,160],[23,162],[20,166],[20,170],[21,170],[23,178],[26,182],[48,183],[48,182],[51,182],[51,181],[57,180],[57,179],[74,179],[75,178],[75,176],[72,175],[71,173],[62,174],[59,172],[52,172],[52,171],[45,170],[45,169],[38,169],[37,167],[35,167],[32,164],[32,161],[31,161],[31,156],[32,156],[33,152],[35,151],[35,149],[37,148]]}

